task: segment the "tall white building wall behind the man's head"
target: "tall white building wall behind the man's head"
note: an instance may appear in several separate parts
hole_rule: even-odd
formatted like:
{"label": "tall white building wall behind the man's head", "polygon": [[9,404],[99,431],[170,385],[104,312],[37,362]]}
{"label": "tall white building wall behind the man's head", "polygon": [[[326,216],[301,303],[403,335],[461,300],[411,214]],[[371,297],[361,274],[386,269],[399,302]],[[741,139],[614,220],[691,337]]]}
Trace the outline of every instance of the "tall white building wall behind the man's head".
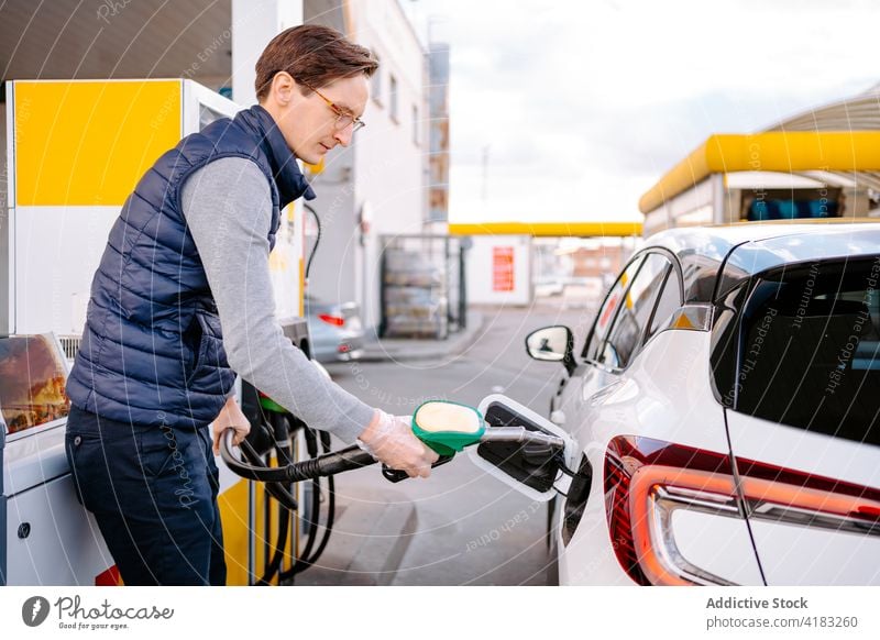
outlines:
{"label": "tall white building wall behind the man's head", "polygon": [[[312,178],[318,198],[310,205],[321,219],[322,240],[309,278],[312,295],[328,301],[356,300],[364,323],[376,325],[381,312],[378,236],[422,233],[427,217],[425,52],[396,0],[350,2],[350,11],[323,0],[309,0],[302,7],[306,21],[346,30],[348,37],[380,58],[382,89],[367,102],[363,114],[366,128],[358,132],[349,148],[337,147],[327,154],[323,172]],[[348,24],[343,15],[350,18]],[[396,120],[389,111],[392,76],[397,81]],[[419,114],[418,142],[413,135],[414,104]],[[364,203],[372,211],[372,224],[362,245],[359,220]]]}

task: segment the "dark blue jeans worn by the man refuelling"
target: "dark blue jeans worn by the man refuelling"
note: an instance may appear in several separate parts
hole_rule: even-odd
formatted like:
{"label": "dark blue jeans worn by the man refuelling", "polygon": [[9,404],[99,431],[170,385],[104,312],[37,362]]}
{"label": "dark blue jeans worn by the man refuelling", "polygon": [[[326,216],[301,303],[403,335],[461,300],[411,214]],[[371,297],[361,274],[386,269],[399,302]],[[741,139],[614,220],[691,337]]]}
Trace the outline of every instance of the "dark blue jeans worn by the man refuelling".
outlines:
{"label": "dark blue jeans worn by the man refuelling", "polygon": [[222,585],[227,565],[207,427],[118,422],[70,407],[67,461],[127,585]]}

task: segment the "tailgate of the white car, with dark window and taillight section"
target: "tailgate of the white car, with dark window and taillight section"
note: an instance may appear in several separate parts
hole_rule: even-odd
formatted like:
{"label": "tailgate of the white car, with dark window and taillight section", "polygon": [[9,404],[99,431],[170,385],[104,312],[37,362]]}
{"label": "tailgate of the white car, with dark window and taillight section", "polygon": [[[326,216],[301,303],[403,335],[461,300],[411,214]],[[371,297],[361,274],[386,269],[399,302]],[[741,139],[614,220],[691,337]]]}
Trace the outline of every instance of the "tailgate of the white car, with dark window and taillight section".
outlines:
{"label": "tailgate of the white car, with dark window and taillight section", "polygon": [[727,427],[768,585],[880,584],[879,278],[785,265],[739,313]]}

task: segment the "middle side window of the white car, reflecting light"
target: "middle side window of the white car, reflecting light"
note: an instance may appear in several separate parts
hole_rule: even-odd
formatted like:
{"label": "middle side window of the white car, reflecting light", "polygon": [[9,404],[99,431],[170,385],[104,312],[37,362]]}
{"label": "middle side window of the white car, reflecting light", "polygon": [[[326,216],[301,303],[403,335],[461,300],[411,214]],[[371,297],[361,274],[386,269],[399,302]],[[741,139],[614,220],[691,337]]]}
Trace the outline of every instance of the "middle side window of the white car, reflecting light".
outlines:
{"label": "middle side window of the white car, reflecting light", "polygon": [[642,345],[645,328],[671,268],[672,264],[663,255],[648,254],[626,293],[597,362],[612,368],[629,365]]}

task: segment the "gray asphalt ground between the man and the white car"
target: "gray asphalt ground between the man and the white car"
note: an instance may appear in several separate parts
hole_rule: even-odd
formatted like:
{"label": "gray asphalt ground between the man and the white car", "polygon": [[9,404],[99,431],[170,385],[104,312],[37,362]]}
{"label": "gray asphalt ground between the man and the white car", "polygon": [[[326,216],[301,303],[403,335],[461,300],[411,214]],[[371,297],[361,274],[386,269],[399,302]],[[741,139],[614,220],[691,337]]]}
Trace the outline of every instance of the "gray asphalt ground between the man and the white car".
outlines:
{"label": "gray asphalt ground between the man and the white car", "polygon": [[[546,416],[563,369],[528,357],[525,336],[540,327],[568,324],[579,347],[592,321],[591,307],[568,308],[562,299],[549,298],[527,308],[485,307],[480,312],[481,328],[470,344],[458,345],[458,353],[424,360],[394,360],[392,354],[384,362],[341,363],[328,371],[365,402],[396,415],[410,415],[427,399],[476,406],[485,396],[502,393]],[[377,467],[342,474],[337,476],[337,496],[343,511],[359,512],[361,520],[363,514],[375,512],[377,521],[355,531],[343,514],[334,531],[336,548],[328,548],[331,553],[322,565],[302,574],[304,584],[554,584],[547,504],[485,474],[465,454],[436,468],[429,479],[391,484]],[[384,540],[385,536],[397,539]],[[378,556],[389,553],[392,543],[394,565],[383,566]],[[359,553],[355,575],[343,567],[353,566],[345,564],[352,562],[346,555]],[[371,553],[377,558],[371,559]],[[371,571],[385,574],[364,581]]]}

